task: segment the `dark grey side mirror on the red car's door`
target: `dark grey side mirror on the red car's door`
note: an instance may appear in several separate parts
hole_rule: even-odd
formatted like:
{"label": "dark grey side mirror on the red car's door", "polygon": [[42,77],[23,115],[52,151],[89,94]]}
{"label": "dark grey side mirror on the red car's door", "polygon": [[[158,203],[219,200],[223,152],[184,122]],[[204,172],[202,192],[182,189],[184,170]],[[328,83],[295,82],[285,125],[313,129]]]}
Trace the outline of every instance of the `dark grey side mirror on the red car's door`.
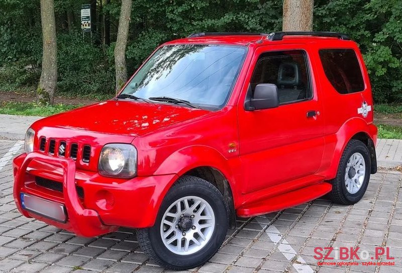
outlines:
{"label": "dark grey side mirror on the red car's door", "polygon": [[250,99],[248,111],[275,108],[279,106],[278,87],[272,83],[259,83]]}

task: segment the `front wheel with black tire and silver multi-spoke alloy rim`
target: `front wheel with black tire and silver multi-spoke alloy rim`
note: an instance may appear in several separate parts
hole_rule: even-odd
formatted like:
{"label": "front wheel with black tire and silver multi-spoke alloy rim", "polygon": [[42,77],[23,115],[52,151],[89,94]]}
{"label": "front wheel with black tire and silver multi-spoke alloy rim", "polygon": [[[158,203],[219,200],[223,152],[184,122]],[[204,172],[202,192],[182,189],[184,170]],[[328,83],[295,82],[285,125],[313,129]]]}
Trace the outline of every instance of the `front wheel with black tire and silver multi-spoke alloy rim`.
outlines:
{"label": "front wheel with black tire and silver multi-spoke alloy rim", "polygon": [[[214,185],[195,176],[182,176],[166,194],[154,226],[137,231],[138,242],[149,258],[167,269],[194,268],[206,263],[222,245],[229,225],[228,212],[224,197]],[[183,234],[185,238],[181,238]],[[176,236],[181,238],[180,250]]]}

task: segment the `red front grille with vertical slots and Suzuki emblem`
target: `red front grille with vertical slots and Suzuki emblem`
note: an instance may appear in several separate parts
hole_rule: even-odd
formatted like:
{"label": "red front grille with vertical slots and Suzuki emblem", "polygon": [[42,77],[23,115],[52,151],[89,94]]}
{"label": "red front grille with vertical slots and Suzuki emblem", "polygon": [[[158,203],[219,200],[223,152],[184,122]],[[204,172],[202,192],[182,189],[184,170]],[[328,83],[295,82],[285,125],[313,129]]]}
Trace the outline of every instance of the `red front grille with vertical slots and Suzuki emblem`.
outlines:
{"label": "red front grille with vertical slots and Suzuki emblem", "polygon": [[[46,143],[48,143],[47,150]],[[51,155],[69,157],[74,160],[77,160],[79,156],[82,159],[82,162],[85,163],[89,163],[91,157],[90,145],[78,145],[77,143],[68,143],[65,140],[49,140],[46,139],[46,137],[41,137],[39,139],[39,150]]]}

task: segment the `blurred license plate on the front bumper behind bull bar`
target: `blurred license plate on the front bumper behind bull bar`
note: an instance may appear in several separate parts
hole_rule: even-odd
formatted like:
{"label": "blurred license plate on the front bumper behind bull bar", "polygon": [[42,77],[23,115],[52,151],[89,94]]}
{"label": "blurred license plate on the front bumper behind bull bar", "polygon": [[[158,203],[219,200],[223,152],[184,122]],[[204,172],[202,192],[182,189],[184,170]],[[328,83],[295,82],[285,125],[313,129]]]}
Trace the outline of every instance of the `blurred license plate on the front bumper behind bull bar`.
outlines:
{"label": "blurred license plate on the front bumper behind bull bar", "polygon": [[40,197],[21,193],[21,205],[24,210],[44,216],[46,218],[65,223],[67,220],[64,205]]}

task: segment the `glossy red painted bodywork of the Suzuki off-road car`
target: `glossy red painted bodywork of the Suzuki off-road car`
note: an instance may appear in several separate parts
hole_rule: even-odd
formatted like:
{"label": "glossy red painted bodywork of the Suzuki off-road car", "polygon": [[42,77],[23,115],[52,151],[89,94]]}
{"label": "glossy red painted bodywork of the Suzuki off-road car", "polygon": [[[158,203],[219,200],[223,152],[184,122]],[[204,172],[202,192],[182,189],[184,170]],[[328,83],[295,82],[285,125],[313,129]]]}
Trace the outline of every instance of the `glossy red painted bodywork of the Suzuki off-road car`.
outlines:
{"label": "glossy red painted bodywork of the Suzuki off-road car", "polygon": [[[149,227],[177,177],[199,166],[218,169],[229,181],[235,209],[243,217],[294,206],[331,190],[323,181],[335,177],[346,143],[357,133],[376,143],[373,112],[357,114],[364,100],[373,105],[366,68],[355,42],[336,38],[292,37],[282,41],[261,36],[199,37],[166,44],[230,44],[248,47],[230,99],[219,111],[178,105],[110,100],[37,121],[34,150],[15,158],[14,197],[18,209],[82,236],[116,230],[118,226]],[[364,76],[362,92],[340,95],[326,78],[318,55],[320,48],[352,48],[358,53]],[[304,50],[308,56],[314,98],[275,109],[247,112],[244,100],[258,55],[266,51]],[[320,112],[307,118],[311,110]],[[90,145],[91,160],[60,158],[38,151],[45,136],[69,145]],[[100,176],[97,161],[107,143],[132,143],[138,151],[138,176],[119,179]],[[231,146],[230,146],[231,144]],[[235,148],[235,151],[229,152]],[[80,157],[80,154],[78,155]],[[39,187],[33,177],[63,183],[63,193]],[[75,185],[84,189],[80,199]],[[58,223],[21,209],[20,192],[65,204],[68,221]],[[280,197],[283,198],[280,198]],[[275,200],[267,207],[261,200]]]}

